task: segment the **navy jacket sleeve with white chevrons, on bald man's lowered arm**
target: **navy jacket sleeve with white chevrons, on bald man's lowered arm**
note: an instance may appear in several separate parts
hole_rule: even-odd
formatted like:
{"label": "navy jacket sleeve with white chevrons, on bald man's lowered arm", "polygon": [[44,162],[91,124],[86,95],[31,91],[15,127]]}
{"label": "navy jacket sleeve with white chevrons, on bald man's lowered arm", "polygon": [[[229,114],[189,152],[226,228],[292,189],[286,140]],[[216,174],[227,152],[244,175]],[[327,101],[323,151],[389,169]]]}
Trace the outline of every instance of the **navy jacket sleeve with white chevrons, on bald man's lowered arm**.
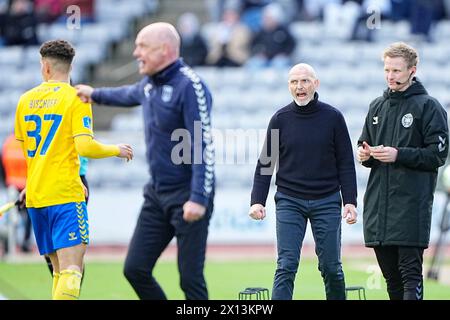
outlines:
{"label": "navy jacket sleeve with white chevrons, on bald man's lowered arm", "polygon": [[192,181],[189,200],[207,206],[214,191],[214,146],[211,133],[212,98],[198,79],[185,87],[183,118],[191,137]]}

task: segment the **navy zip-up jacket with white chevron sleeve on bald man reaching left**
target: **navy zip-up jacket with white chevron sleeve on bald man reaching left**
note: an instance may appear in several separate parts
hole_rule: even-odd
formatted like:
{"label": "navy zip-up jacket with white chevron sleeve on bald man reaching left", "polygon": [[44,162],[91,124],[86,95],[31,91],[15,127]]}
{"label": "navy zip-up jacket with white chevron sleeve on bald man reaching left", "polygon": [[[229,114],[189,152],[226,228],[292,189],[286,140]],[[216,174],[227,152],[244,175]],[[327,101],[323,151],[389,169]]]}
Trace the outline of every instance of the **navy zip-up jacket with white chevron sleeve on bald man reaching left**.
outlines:
{"label": "navy zip-up jacket with white chevron sleeve on bald man reaching left", "polygon": [[208,204],[214,189],[212,98],[182,59],[133,85],[95,89],[92,99],[122,107],[142,105],[153,186],[170,191],[188,185],[189,200]]}

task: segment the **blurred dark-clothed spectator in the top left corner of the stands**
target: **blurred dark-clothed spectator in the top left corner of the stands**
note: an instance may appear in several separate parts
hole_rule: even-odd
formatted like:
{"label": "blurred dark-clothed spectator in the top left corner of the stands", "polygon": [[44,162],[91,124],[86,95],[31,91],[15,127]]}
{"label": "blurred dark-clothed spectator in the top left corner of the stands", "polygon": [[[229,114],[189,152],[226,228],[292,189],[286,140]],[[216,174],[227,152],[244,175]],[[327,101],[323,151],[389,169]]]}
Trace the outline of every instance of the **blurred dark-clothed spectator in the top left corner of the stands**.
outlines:
{"label": "blurred dark-clothed spectator in the top left corner of the stands", "polygon": [[13,0],[7,13],[1,19],[1,31],[4,44],[37,45],[37,18],[33,3],[29,0]]}

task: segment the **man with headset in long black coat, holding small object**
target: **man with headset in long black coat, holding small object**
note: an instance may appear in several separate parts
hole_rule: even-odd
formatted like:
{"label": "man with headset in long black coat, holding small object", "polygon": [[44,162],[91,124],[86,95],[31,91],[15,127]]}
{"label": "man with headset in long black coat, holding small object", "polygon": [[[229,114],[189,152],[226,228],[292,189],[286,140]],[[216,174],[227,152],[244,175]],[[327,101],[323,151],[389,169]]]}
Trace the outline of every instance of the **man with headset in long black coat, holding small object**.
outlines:
{"label": "man with headset in long black coat, holding small object", "polygon": [[370,104],[358,140],[357,158],[371,168],[364,241],[375,250],[389,298],[422,300],[433,194],[448,153],[447,113],[414,77],[414,48],[393,43],[383,60],[388,88]]}

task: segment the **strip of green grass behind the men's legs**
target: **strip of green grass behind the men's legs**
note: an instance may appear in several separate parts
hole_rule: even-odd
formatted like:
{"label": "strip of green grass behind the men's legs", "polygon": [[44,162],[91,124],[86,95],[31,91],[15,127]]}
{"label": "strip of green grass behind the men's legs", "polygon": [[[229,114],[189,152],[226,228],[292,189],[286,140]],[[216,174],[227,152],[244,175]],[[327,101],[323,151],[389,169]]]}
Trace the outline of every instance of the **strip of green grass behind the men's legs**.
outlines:
{"label": "strip of green grass behind the men's legs", "polygon": [[[370,272],[376,266],[370,259],[344,260],[347,286],[366,287],[367,299],[387,299],[384,279]],[[121,262],[88,262],[80,299],[137,299],[136,294],[122,275]],[[155,269],[169,299],[184,299],[179,288],[176,262],[161,261]],[[208,261],[205,274],[211,299],[237,299],[238,292],[246,287],[266,287],[271,291],[275,262],[260,261]],[[368,271],[366,271],[368,270]],[[0,263],[0,293],[9,299],[50,299],[51,277],[42,263]],[[301,261],[295,283],[294,299],[325,298],[322,278],[314,258]],[[450,286],[435,281],[425,281],[426,299],[450,299]],[[351,292],[349,299],[357,299]]]}

